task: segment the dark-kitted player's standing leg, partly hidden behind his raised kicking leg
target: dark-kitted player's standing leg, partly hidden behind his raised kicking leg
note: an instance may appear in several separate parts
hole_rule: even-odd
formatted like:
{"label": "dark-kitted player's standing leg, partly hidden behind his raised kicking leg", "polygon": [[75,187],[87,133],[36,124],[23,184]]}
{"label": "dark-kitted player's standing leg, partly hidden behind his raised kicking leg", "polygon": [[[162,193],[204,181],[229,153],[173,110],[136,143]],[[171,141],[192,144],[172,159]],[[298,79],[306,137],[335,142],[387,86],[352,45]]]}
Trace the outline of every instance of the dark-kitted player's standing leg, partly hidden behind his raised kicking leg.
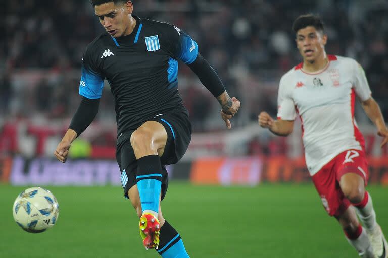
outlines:
{"label": "dark-kitted player's standing leg, partly hidden behind his raised kicking leg", "polygon": [[[140,196],[137,185],[132,186],[128,191],[128,197],[133,207],[136,209],[139,218],[142,216]],[[183,241],[178,232],[164,219],[162,209],[159,203],[158,220],[161,225],[160,233],[157,236],[160,239],[158,253],[163,258],[187,258],[189,257],[184,248]]]}

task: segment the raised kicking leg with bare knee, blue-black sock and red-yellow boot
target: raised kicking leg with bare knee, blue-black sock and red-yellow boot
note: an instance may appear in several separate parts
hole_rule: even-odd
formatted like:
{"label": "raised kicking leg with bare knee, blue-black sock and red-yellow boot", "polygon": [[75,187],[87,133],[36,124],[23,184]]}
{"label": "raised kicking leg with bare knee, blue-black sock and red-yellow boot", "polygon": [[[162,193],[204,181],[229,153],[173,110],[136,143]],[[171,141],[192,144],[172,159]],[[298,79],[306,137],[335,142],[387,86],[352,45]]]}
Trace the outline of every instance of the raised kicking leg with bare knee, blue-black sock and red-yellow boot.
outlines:
{"label": "raised kicking leg with bare knee, blue-black sock and red-yellow boot", "polygon": [[131,145],[137,159],[136,185],[139,192],[142,215],[140,235],[146,248],[159,245],[159,200],[162,185],[160,156],[167,142],[163,125],[147,121],[131,135]]}

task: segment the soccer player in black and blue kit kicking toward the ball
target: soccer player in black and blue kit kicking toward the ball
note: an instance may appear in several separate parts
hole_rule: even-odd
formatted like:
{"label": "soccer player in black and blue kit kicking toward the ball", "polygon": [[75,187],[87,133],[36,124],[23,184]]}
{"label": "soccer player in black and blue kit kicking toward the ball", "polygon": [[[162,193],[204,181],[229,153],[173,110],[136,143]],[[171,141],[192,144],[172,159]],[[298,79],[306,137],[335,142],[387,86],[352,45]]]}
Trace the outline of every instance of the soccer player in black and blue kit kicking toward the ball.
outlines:
{"label": "soccer player in black and blue kit kicking toward the ball", "polygon": [[189,257],[177,231],[164,219],[160,201],[166,195],[165,166],[185,153],[191,139],[188,112],[178,93],[182,60],[221,104],[227,128],[240,107],[230,98],[197,43],[168,23],[132,15],[125,0],[91,0],[106,33],[94,39],[82,58],[81,103],[54,154],[65,162],[72,141],[92,122],[104,80],[116,103],[117,151],[124,196],[140,217],[143,244],[164,258]]}

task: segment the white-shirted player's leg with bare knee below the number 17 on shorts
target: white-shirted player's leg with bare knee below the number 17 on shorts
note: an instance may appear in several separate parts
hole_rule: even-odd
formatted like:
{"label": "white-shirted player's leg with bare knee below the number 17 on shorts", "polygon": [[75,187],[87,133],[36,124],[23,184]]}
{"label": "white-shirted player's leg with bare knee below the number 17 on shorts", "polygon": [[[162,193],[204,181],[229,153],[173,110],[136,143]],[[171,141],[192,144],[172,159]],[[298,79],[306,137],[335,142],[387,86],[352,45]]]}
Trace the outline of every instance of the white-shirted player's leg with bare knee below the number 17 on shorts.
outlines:
{"label": "white-shirted player's leg with bare knee below the number 17 on shorts", "polygon": [[364,174],[346,173],[340,179],[340,186],[344,195],[356,208],[355,211],[366,229],[375,257],[386,258],[388,257],[388,244],[376,222],[372,198],[365,190],[364,180]]}

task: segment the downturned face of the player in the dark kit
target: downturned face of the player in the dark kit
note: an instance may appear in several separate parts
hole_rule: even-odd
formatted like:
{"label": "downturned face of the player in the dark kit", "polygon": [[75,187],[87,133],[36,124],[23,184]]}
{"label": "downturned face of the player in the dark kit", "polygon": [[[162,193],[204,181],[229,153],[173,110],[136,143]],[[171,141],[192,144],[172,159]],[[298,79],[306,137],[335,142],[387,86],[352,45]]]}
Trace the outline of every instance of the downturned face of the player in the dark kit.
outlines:
{"label": "downturned face of the player in the dark kit", "polygon": [[94,7],[95,15],[99,17],[101,25],[112,37],[124,36],[130,25],[130,17],[133,11],[131,1],[125,4],[108,2]]}

